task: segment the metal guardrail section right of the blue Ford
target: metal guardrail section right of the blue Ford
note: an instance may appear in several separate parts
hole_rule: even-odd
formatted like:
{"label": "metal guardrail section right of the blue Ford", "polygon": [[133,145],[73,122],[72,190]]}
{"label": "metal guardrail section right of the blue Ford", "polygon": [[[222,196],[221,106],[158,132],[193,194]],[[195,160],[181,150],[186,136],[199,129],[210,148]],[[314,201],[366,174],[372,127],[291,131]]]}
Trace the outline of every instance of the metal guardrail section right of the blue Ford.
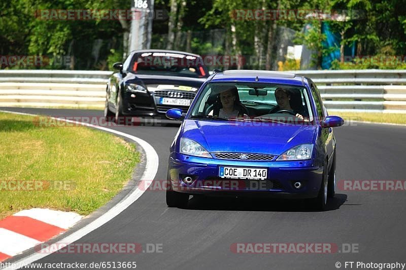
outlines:
{"label": "metal guardrail section right of the blue Ford", "polygon": [[297,70],[318,86],[328,109],[406,113],[406,70]]}

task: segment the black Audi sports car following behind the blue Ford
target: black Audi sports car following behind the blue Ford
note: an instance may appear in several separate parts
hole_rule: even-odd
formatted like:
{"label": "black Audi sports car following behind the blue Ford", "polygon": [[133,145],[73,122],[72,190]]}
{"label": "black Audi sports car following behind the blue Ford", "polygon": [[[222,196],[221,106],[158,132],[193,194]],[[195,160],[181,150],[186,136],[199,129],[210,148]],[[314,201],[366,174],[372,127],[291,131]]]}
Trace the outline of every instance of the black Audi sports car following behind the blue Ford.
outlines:
{"label": "black Audi sports car following behind the blue Ford", "polygon": [[107,83],[104,115],[164,117],[171,108],[187,111],[197,90],[209,76],[199,55],[167,50],[133,51]]}

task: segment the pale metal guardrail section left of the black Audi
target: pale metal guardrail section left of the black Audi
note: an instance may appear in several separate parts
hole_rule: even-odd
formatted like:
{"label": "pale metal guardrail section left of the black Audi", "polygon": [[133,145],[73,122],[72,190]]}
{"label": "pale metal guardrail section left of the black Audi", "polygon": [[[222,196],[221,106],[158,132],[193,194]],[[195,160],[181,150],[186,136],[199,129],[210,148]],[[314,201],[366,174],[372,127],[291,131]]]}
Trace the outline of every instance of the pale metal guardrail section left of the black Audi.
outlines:
{"label": "pale metal guardrail section left of the black Audi", "polygon": [[0,106],[103,108],[112,71],[0,70]]}

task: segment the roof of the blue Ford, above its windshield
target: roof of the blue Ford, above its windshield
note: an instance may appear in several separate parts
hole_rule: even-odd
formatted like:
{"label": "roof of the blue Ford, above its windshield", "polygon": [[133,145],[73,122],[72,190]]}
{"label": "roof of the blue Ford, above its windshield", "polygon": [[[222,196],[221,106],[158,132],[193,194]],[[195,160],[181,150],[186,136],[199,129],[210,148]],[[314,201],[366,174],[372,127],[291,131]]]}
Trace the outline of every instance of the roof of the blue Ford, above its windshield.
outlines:
{"label": "roof of the blue Ford, above its windshield", "polygon": [[209,78],[211,82],[262,82],[296,86],[305,86],[305,80],[294,73],[266,70],[226,70]]}

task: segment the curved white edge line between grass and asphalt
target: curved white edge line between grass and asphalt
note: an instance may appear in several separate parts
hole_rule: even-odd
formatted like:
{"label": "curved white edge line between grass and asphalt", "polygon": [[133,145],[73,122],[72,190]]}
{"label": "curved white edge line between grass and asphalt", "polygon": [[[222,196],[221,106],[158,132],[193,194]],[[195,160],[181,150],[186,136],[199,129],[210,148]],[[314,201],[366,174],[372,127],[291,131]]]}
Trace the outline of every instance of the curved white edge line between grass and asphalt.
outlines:
{"label": "curved white edge line between grass and asphalt", "polygon": [[[38,116],[38,114],[31,114],[31,113],[24,113],[24,112],[14,112],[14,111],[8,111],[8,110],[0,110],[0,112],[8,112],[8,113],[15,113],[15,114],[22,114],[22,115]],[[145,154],[147,156],[147,162],[146,162],[146,165],[145,165],[145,170],[144,170],[144,173],[143,173],[140,180],[153,180],[155,178],[156,173],[158,171],[158,164],[159,164],[158,154],[155,151],[154,147],[152,147],[152,145],[149,144],[148,142],[146,142],[145,140],[140,139],[140,138],[138,138],[136,136],[132,136],[132,135],[129,135],[129,134],[126,134],[126,133],[123,133],[123,132],[120,132],[120,131],[116,131],[116,130],[113,130],[113,129],[105,128],[105,127],[99,127],[99,126],[95,126],[95,125],[91,125],[91,124],[87,124],[87,123],[81,123],[81,122],[77,122],[77,121],[65,120],[65,119],[54,118],[54,117],[52,117],[52,119],[65,121],[65,122],[70,122],[70,123],[75,123],[75,124],[80,124],[80,125],[83,125],[83,126],[92,127],[92,128],[96,128],[96,129],[99,129],[99,130],[104,130],[104,131],[107,131],[107,132],[110,132],[110,133],[113,133],[113,134],[116,134],[116,135],[126,137],[126,138],[128,138],[128,139],[130,139],[132,141],[135,141],[136,143],[138,143],[144,149]],[[116,217],[118,214],[120,214],[122,211],[127,209],[132,203],[137,201],[141,197],[141,195],[143,195],[145,190],[148,189],[148,187],[151,185],[151,183],[152,183],[152,181],[146,181],[146,185],[148,185],[148,186],[143,187],[143,190],[141,190],[140,188],[135,189],[131,194],[126,196],[123,200],[121,200],[118,204],[113,206],[106,213],[104,213],[103,215],[101,215],[97,219],[93,220],[91,223],[87,224],[83,228],[80,228],[76,232],[72,233],[71,235],[61,239],[59,242],[65,243],[65,244],[71,244],[71,243],[81,239],[82,237],[86,236],[87,234],[91,233],[93,230],[97,229],[101,225],[104,225],[105,223],[107,223],[108,221],[110,221],[111,219]],[[56,251],[57,250],[55,250],[54,252],[56,252]],[[5,267],[5,268],[2,268],[2,269],[4,269],[4,270],[16,270],[18,268],[24,267],[24,265],[35,262],[35,261],[37,261],[39,259],[42,259],[42,258],[44,258],[44,257],[46,257],[46,256],[48,256],[50,254],[52,254],[52,253],[41,253],[41,251],[38,251],[37,253],[30,254],[27,257],[22,258],[22,259],[20,259],[20,260],[18,260],[16,262],[14,262],[11,266]]]}

